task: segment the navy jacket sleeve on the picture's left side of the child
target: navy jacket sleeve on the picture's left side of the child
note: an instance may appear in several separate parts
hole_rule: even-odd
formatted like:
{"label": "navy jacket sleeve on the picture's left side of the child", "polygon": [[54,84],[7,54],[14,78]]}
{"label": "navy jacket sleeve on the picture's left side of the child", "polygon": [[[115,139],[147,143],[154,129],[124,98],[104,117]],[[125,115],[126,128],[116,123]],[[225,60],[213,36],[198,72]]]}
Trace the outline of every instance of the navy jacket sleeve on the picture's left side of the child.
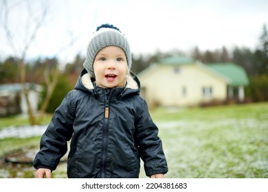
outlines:
{"label": "navy jacket sleeve on the picture's left side of the child", "polygon": [[67,141],[73,134],[74,103],[69,92],[55,110],[47,130],[41,137],[40,151],[34,158],[34,168],[51,167],[55,170],[60,158],[67,152]]}

